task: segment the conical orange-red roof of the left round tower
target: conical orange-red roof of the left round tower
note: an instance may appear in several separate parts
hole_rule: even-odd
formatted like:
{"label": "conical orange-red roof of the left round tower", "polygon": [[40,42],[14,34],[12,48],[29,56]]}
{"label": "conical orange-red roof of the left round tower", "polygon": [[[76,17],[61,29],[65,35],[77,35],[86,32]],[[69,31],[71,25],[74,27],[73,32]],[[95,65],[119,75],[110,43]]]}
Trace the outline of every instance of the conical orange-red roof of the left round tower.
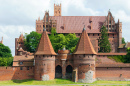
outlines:
{"label": "conical orange-red roof of the left round tower", "polygon": [[43,30],[35,55],[57,55],[51,45],[46,29]]}

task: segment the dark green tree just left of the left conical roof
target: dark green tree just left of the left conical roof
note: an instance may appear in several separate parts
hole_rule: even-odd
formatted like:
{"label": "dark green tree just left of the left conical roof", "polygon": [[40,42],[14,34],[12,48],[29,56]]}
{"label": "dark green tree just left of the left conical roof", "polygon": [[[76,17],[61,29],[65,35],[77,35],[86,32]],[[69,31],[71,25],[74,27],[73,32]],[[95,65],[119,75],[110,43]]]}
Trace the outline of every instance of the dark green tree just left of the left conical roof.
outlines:
{"label": "dark green tree just left of the left conical roof", "polygon": [[24,45],[26,46],[27,51],[34,53],[41,38],[41,34],[32,31],[30,34],[27,34],[25,38]]}

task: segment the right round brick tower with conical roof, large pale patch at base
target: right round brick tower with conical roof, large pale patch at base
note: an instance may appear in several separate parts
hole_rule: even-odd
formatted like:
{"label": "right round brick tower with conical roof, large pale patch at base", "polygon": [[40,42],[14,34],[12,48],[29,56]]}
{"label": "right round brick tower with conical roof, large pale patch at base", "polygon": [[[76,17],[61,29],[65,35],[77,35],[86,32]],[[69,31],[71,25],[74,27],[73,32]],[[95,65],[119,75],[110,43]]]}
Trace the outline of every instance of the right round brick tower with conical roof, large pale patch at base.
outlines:
{"label": "right round brick tower with conical roof, large pale patch at base", "polygon": [[74,68],[78,68],[78,82],[92,83],[95,81],[96,52],[91,44],[85,27],[73,53]]}

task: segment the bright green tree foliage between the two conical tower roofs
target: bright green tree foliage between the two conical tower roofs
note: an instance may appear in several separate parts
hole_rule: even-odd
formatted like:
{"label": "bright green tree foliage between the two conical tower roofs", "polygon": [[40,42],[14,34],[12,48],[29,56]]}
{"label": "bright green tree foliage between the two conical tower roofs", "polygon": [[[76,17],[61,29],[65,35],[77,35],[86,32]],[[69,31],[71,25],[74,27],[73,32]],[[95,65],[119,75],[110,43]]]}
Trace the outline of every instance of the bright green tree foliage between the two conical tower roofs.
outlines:
{"label": "bright green tree foliage between the two conical tower roofs", "polygon": [[51,29],[51,35],[49,38],[55,52],[58,52],[59,49],[63,49],[63,47],[65,47],[72,53],[75,50],[79,40],[75,34],[57,34],[55,28]]}

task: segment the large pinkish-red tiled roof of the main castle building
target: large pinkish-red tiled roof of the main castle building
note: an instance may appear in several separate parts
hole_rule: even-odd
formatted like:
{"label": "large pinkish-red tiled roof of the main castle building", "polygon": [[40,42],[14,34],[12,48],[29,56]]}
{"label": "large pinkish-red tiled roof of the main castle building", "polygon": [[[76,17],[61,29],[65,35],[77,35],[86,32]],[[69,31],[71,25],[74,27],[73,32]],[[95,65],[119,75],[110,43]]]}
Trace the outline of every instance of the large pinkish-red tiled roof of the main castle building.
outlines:
{"label": "large pinkish-red tiled roof of the main castle building", "polygon": [[[93,29],[90,29],[90,18]],[[88,33],[100,33],[100,28],[106,20],[106,16],[50,16],[51,20],[57,21],[57,33],[82,33],[82,26]]]}

